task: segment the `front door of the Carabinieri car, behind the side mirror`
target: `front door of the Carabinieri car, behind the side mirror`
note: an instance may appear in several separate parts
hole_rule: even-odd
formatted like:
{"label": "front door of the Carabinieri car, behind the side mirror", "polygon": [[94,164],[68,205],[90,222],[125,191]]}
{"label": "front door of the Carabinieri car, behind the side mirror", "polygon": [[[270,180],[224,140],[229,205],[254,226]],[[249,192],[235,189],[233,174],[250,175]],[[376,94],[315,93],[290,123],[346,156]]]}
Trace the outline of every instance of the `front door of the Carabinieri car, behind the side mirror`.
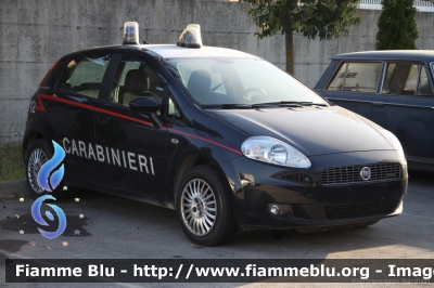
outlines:
{"label": "front door of the Carabinieri car, behind the side mirror", "polygon": [[105,191],[152,202],[165,188],[167,128],[155,128],[149,116],[129,108],[129,102],[144,96],[164,105],[165,87],[144,56],[119,54],[110,96],[101,102],[95,118],[95,146],[104,155],[97,179]]}

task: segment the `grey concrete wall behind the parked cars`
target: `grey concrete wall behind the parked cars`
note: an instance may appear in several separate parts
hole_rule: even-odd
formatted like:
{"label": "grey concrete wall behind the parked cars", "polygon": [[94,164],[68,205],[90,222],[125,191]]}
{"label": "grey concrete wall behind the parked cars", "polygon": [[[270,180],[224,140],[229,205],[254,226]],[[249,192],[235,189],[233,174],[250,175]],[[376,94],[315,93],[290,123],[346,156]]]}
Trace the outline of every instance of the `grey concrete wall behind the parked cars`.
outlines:
{"label": "grey concrete wall behind the parked cars", "polygon": [[[309,41],[295,34],[295,76],[314,86],[332,55],[372,50],[380,11],[359,11],[350,36]],[[433,48],[434,13],[418,13],[420,49]],[[175,43],[189,23],[201,24],[203,42],[259,55],[284,68],[284,38],[259,41],[237,2],[217,0],[0,0],[0,145],[20,142],[29,97],[62,55],[122,42],[126,21],[140,24],[140,38]]]}

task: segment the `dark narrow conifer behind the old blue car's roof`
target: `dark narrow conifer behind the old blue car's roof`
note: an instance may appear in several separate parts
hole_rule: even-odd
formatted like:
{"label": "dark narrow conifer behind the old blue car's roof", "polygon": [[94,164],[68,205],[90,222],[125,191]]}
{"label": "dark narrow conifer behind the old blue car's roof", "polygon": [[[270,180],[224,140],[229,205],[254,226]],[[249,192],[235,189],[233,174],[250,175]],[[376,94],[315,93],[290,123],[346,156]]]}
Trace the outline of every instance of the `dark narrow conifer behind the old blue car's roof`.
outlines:
{"label": "dark narrow conifer behind the old blue car's roof", "polygon": [[383,0],[383,12],[378,22],[376,50],[417,49],[413,0]]}

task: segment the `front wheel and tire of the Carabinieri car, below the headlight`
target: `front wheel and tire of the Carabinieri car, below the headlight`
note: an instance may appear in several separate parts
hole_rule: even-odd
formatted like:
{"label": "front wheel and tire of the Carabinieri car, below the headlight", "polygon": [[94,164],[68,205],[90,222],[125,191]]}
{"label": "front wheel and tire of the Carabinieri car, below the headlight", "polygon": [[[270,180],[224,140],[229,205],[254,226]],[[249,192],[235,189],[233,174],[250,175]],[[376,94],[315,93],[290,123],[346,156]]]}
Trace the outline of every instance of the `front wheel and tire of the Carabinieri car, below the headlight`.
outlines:
{"label": "front wheel and tire of the Carabinieri car, below the headlight", "polygon": [[193,167],[184,174],[177,194],[177,213],[191,241],[216,246],[237,234],[239,226],[227,189],[221,176],[208,166]]}

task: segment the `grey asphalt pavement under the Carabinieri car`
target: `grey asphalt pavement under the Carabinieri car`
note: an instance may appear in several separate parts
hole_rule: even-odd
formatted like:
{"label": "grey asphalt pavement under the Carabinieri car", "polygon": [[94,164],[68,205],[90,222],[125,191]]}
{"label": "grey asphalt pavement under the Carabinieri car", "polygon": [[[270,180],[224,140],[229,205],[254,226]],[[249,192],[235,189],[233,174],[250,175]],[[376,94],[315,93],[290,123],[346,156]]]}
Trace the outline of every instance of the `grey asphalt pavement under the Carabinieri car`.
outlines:
{"label": "grey asphalt pavement under the Carabinieri car", "polygon": [[[366,228],[301,234],[283,231],[240,232],[227,246],[206,248],[190,243],[181,232],[173,210],[86,189],[69,191],[55,205],[67,217],[64,234],[47,239],[37,231],[30,214],[31,200],[23,182],[0,185],[0,286],[4,284],[4,258],[35,259],[259,259],[259,258],[343,258],[343,259],[433,259],[434,258],[434,173],[410,171],[410,184],[404,213]],[[21,189],[21,191],[20,191]],[[10,197],[12,195],[12,197]],[[80,200],[75,201],[75,197]],[[79,214],[84,214],[84,219]],[[20,218],[16,218],[18,215]],[[18,231],[23,230],[24,234]],[[79,230],[80,235],[74,231]],[[30,243],[35,241],[35,246]],[[66,247],[62,246],[67,241]],[[113,286],[144,286],[111,284]],[[31,287],[56,287],[59,284],[33,284]],[[76,287],[77,284],[62,284]],[[82,284],[89,287],[88,284]],[[157,284],[145,285],[157,286]],[[168,284],[158,286],[170,286]],[[178,285],[179,286],[179,285]],[[203,285],[183,285],[200,287]],[[271,287],[271,284],[216,284],[209,287]],[[276,285],[273,285],[275,287]],[[288,285],[281,285],[286,287]],[[296,285],[294,285],[295,287]],[[335,287],[311,284],[304,287]],[[347,285],[341,285],[345,287]],[[28,286],[30,287],[30,286]],[[107,287],[107,284],[92,284]],[[365,287],[365,286],[363,286]],[[382,287],[386,287],[383,285]],[[397,287],[396,285],[393,287]],[[406,285],[405,287],[411,287]]]}

